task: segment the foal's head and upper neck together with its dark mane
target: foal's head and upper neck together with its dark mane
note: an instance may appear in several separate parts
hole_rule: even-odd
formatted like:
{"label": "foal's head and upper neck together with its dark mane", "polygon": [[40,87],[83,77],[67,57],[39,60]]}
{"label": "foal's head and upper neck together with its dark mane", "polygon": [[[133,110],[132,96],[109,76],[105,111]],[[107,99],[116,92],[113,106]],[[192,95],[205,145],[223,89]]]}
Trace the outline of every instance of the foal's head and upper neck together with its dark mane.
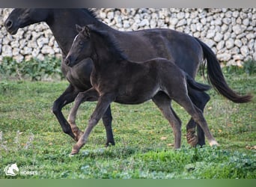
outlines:
{"label": "foal's head and upper neck together with its dark mane", "polygon": [[79,34],[73,40],[70,52],[67,54],[65,63],[69,67],[78,64],[85,58],[111,59],[112,61],[127,60],[127,56],[119,48],[118,41],[108,31],[98,25],[76,25]]}

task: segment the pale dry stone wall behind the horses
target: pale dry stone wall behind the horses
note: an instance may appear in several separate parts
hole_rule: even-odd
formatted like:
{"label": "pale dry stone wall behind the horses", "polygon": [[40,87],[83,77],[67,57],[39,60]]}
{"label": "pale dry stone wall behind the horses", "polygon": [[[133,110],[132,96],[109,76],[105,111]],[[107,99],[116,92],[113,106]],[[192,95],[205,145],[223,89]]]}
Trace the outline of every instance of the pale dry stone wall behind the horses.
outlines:
{"label": "pale dry stone wall behind the horses", "polygon": [[[5,56],[17,61],[61,56],[58,44],[46,23],[7,34],[4,19],[12,9],[0,9],[0,63]],[[198,37],[207,43],[221,62],[240,65],[256,59],[256,8],[104,8],[94,9],[97,16],[120,31],[144,28],[171,28]]]}

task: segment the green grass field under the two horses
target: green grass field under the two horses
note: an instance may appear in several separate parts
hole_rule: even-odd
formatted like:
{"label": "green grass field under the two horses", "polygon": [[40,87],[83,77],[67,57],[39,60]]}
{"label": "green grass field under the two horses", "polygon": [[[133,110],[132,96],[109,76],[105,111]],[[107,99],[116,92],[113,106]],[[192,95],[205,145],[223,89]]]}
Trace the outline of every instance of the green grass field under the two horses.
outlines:
{"label": "green grass field under the two horses", "polygon": [[[224,71],[225,72],[225,71]],[[256,76],[228,74],[239,93],[256,93]],[[205,117],[220,147],[191,148],[186,143],[189,116],[174,103],[183,121],[182,147],[174,150],[174,135],[153,102],[112,104],[116,145],[105,148],[100,122],[79,155],[69,157],[74,141],[61,131],[52,103],[67,82],[0,81],[0,178],[256,178],[256,99],[234,104],[215,91]],[[77,124],[85,129],[96,102],[83,103]],[[71,105],[64,109],[67,116]],[[6,176],[4,167],[37,175]]]}

